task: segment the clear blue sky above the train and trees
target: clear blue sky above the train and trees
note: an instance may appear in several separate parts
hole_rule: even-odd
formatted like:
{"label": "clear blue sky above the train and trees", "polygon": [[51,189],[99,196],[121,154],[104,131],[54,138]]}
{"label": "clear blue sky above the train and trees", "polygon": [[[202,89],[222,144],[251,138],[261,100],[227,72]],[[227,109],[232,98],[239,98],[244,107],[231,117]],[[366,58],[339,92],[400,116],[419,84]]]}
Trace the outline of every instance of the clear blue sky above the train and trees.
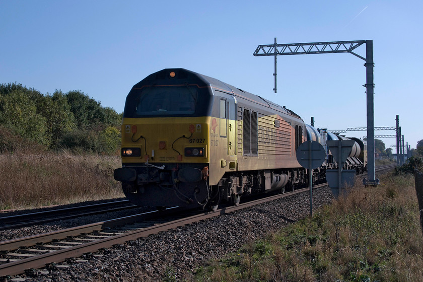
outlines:
{"label": "clear blue sky above the train and trees", "polygon": [[[423,1],[0,0],[0,83],[81,90],[123,111],[130,88],[183,67],[292,109],[315,127],[366,127],[364,61],[351,54],[254,57],[258,45],[373,40],[375,126],[423,139]],[[365,56],[365,45],[357,49]],[[395,131],[375,131],[375,135]],[[348,132],[363,137],[366,131]],[[382,139],[386,148],[395,138]],[[394,152],[396,149],[393,148]]]}

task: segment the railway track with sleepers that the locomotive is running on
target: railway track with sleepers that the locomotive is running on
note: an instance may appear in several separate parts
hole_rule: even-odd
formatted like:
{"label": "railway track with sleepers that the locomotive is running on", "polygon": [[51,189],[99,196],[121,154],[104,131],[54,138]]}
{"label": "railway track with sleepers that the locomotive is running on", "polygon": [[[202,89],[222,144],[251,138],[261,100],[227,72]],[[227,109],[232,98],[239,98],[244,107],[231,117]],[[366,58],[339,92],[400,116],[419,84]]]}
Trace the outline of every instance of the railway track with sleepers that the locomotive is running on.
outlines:
{"label": "railway track with sleepers that the locomotive is running on", "polygon": [[[378,167],[377,171],[391,168],[392,166]],[[325,185],[327,184],[314,185],[314,188]],[[84,253],[96,252],[115,244],[122,244],[308,190],[308,188],[302,188],[285,194],[271,195],[240,203],[237,206],[222,207],[216,212],[175,207],[162,212],[149,212],[0,242],[0,276],[17,275],[26,269],[42,268],[50,263],[62,262],[69,257],[80,257]]]}

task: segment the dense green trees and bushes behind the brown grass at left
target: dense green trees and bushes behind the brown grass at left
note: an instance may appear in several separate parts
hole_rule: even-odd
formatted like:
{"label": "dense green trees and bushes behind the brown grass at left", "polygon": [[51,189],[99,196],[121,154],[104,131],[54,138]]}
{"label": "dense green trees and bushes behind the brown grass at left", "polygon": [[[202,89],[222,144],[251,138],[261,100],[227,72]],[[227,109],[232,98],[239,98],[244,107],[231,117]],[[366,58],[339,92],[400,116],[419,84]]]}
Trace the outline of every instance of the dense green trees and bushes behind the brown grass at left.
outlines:
{"label": "dense green trees and bushes behind the brown grass at left", "polygon": [[22,84],[0,84],[0,153],[22,146],[116,154],[122,113],[82,91],[43,95]]}

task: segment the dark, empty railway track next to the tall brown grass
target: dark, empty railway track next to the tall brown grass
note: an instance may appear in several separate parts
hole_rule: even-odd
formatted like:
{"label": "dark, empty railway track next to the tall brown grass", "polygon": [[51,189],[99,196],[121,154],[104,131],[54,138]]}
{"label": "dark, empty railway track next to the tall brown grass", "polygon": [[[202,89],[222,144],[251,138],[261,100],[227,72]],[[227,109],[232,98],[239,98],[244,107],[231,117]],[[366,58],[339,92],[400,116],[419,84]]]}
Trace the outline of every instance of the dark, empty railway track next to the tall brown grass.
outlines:
{"label": "dark, empty railway track next to the tall brown grass", "polygon": [[68,207],[61,209],[46,210],[44,212],[30,213],[0,218],[0,231],[34,226],[52,221],[68,220],[84,216],[99,215],[109,212],[116,212],[122,209],[137,207],[129,200],[119,200],[93,205]]}

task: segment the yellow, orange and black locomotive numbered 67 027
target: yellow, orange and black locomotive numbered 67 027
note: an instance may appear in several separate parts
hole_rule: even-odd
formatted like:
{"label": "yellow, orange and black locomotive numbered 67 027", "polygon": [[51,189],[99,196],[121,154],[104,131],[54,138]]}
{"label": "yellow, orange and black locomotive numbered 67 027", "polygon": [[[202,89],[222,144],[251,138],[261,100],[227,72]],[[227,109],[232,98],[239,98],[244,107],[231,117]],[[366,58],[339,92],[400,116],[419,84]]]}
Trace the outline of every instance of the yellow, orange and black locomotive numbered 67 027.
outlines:
{"label": "yellow, orange and black locomotive numbered 67 027", "polygon": [[296,150],[306,125],[293,111],[183,68],[135,84],[122,120],[114,178],[141,206],[217,209],[241,195],[307,182]]}

